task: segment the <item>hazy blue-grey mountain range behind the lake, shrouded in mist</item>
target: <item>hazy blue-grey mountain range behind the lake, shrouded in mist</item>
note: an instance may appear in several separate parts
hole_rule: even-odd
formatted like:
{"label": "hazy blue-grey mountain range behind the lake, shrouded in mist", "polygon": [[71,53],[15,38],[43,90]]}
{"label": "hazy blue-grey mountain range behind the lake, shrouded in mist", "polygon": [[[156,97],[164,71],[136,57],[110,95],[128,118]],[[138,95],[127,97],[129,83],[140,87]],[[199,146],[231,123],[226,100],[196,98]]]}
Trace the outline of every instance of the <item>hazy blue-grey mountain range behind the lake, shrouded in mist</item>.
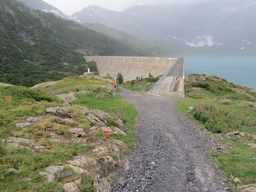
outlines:
{"label": "hazy blue-grey mountain range behind the lake, shrouded in mist", "polygon": [[163,42],[177,52],[254,53],[256,3],[134,6],[122,12],[89,6],[72,17],[100,23],[137,38]]}

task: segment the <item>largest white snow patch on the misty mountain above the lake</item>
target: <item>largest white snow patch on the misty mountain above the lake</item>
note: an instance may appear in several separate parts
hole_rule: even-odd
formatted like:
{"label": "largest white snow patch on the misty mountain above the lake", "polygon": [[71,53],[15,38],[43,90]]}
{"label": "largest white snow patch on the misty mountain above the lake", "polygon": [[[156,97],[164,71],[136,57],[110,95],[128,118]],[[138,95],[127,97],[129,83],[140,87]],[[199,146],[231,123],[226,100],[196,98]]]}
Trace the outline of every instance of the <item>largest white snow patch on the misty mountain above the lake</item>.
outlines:
{"label": "largest white snow patch on the misty mountain above the lake", "polygon": [[204,47],[204,46],[212,47],[214,45],[222,45],[222,43],[214,42],[214,36],[211,36],[211,35],[200,35],[193,40],[177,38],[176,36],[171,36],[171,37],[174,38],[175,40],[184,42],[190,47],[195,47],[195,48]]}

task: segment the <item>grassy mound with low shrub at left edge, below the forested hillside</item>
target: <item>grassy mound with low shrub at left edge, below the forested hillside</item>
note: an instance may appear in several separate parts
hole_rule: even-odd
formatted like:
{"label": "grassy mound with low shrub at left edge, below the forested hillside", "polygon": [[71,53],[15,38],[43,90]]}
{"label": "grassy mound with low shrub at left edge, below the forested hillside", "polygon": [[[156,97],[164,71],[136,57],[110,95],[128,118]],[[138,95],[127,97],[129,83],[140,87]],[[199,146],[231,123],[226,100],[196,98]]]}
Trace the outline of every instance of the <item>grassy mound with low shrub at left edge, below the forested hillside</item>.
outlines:
{"label": "grassy mound with low shrub at left edge, below the forested hillside", "polygon": [[[40,103],[36,104],[36,101]],[[42,114],[46,108],[59,104],[62,104],[61,100],[39,90],[18,86],[0,87],[0,138],[14,136],[14,120]]]}

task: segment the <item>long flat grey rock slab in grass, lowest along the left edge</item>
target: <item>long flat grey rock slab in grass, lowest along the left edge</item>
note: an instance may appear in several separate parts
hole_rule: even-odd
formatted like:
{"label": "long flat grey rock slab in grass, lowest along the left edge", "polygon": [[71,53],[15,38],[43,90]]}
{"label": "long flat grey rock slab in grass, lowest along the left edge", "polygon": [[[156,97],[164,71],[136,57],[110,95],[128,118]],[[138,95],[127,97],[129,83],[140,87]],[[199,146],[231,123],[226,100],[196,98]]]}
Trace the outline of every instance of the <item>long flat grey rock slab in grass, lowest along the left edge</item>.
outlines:
{"label": "long flat grey rock slab in grass, lowest along the left edge", "polygon": [[[42,145],[38,144],[35,140],[19,138],[19,137],[8,137],[7,139],[3,139],[2,142],[4,144],[8,144],[9,146],[14,146],[14,147],[25,147],[27,145],[34,149],[48,148],[46,146],[42,146]],[[24,144],[25,144],[25,146],[24,146]]]}

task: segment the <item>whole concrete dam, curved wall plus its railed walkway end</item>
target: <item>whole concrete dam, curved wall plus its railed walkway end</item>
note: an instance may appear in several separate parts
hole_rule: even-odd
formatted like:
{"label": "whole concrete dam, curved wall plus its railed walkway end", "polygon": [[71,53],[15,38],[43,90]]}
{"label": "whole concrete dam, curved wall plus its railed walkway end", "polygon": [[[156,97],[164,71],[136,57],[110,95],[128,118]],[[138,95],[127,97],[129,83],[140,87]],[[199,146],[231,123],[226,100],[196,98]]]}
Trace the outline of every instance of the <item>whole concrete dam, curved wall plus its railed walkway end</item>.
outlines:
{"label": "whole concrete dam, curved wall plus its railed walkway end", "polygon": [[84,59],[96,62],[100,76],[110,74],[115,78],[120,72],[124,81],[146,78],[149,73],[154,77],[162,75],[153,92],[178,92],[184,96],[184,58],[84,56]]}

